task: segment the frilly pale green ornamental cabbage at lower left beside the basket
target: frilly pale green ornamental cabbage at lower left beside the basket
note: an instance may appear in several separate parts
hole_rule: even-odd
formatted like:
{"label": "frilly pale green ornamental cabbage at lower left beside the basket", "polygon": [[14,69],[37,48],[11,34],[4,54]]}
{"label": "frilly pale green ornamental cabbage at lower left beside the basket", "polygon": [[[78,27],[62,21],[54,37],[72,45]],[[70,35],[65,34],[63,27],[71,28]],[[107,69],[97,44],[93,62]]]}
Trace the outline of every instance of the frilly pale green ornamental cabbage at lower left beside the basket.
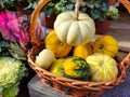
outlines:
{"label": "frilly pale green ornamental cabbage at lower left beside the basket", "polygon": [[11,57],[0,57],[0,94],[4,97],[15,97],[26,70],[22,61]]}

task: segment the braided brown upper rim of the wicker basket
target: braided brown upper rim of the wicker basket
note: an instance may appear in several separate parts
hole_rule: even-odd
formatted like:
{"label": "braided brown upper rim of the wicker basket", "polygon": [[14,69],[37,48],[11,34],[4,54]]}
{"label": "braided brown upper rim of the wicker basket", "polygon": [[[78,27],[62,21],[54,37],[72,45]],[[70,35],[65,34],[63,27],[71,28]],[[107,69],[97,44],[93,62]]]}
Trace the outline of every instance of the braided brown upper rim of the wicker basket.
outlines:
{"label": "braided brown upper rim of the wicker basket", "polygon": [[79,81],[79,80],[74,80],[74,79],[68,79],[68,78],[55,75],[55,74],[49,72],[48,70],[38,67],[38,65],[35,64],[35,61],[31,58],[31,56],[34,54],[34,48],[35,47],[29,50],[28,54],[27,54],[29,66],[31,67],[31,69],[34,69],[37,73],[38,72],[43,72],[43,74],[46,74],[46,75],[51,75],[58,81],[67,81],[69,83],[74,84],[74,85],[82,85],[82,84],[87,85],[87,84],[89,84],[89,86],[98,86],[98,85],[105,85],[105,86],[107,85],[108,86],[108,85],[114,85],[113,83],[116,83],[116,82],[117,82],[117,84],[119,84],[120,82],[123,82],[125,77],[126,77],[126,68],[125,68],[125,66],[122,66],[122,64],[125,64],[125,63],[122,63],[122,60],[119,60],[119,65],[118,65],[118,66],[122,66],[122,67],[119,67],[119,69],[118,69],[119,70],[119,73],[118,73],[119,75],[117,77],[117,79],[108,81],[108,82]]}

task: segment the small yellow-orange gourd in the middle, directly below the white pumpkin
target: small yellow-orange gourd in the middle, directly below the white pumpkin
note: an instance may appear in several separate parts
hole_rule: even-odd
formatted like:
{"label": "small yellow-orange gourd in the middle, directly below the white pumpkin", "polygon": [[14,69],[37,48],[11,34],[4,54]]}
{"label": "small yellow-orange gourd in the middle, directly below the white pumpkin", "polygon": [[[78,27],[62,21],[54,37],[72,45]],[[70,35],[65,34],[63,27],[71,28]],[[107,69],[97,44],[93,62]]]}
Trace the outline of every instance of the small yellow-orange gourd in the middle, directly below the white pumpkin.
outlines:
{"label": "small yellow-orange gourd in the middle, directly below the white pumpkin", "polygon": [[84,59],[91,54],[92,54],[92,46],[90,43],[87,43],[84,45],[75,46],[73,50],[74,56],[79,56],[79,57],[82,57]]}

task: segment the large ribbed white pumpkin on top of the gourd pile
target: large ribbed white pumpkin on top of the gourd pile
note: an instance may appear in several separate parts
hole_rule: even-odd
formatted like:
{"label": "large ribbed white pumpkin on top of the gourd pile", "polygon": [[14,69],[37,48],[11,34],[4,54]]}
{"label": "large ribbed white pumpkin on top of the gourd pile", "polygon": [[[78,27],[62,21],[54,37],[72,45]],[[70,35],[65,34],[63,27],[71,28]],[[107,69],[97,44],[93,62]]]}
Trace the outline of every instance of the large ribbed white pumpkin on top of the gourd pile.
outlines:
{"label": "large ribbed white pumpkin on top of the gourd pile", "polygon": [[79,12],[77,19],[75,15],[74,11],[58,14],[54,30],[62,42],[72,45],[86,44],[95,33],[94,20],[82,12]]}

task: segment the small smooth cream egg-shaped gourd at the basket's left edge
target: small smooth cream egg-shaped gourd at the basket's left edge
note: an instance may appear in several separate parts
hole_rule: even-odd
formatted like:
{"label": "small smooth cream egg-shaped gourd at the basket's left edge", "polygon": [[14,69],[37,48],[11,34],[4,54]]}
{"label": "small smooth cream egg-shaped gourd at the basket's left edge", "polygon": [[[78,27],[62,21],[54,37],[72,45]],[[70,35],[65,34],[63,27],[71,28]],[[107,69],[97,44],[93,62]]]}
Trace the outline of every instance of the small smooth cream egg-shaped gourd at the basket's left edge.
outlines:
{"label": "small smooth cream egg-shaped gourd at the basket's left edge", "polygon": [[48,69],[52,63],[54,61],[54,54],[51,50],[42,50],[38,56],[36,56],[36,64],[43,68],[43,69]]}

